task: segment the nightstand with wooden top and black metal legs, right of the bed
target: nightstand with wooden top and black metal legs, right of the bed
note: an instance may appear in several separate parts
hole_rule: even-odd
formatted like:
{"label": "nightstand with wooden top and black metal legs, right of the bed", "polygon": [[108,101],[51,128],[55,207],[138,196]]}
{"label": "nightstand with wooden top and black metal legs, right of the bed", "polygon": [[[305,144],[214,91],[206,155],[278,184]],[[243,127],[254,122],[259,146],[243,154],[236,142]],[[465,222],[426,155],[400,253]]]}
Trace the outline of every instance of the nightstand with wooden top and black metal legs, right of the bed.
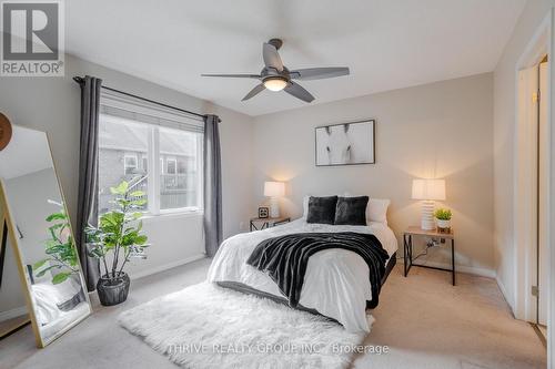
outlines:
{"label": "nightstand with wooden top and black metal legs, right of the bed", "polygon": [[[442,240],[444,239],[450,239],[451,240],[451,269],[447,268],[440,268],[440,267],[434,267],[430,265],[423,265],[423,264],[414,264],[413,263],[413,237],[428,237],[428,238],[440,238]],[[416,266],[421,268],[430,268],[430,269],[436,269],[436,270],[445,270],[445,271],[451,271],[452,274],[452,280],[453,280],[453,286],[455,286],[455,235],[453,234],[453,230],[450,233],[441,233],[436,229],[432,230],[424,230],[421,229],[420,227],[408,227],[404,233],[403,233],[403,257],[404,257],[404,271],[405,271],[405,277],[408,274],[408,270],[411,270],[411,267]]]}

